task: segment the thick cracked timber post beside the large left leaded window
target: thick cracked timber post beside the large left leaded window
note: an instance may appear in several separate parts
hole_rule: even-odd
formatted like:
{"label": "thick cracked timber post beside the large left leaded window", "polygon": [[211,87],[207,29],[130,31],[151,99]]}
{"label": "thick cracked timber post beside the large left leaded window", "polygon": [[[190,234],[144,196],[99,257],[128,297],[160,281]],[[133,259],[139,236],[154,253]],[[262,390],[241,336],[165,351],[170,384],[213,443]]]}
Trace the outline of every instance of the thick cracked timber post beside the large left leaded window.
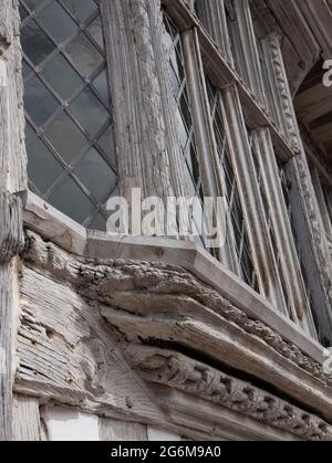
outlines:
{"label": "thick cracked timber post beside the large left leaded window", "polygon": [[120,192],[183,196],[159,0],[102,0],[120,169]]}

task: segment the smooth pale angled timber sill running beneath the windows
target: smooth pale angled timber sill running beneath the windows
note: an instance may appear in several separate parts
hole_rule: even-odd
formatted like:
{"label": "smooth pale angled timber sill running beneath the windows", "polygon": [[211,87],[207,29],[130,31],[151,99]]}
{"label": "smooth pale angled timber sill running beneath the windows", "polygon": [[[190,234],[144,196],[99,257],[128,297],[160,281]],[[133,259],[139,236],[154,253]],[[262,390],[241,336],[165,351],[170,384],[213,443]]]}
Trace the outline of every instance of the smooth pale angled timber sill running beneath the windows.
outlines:
{"label": "smooth pale angled timber sill running beneath the windows", "polygon": [[[106,233],[86,230],[66,219],[54,208],[48,207],[29,192],[24,220],[29,229],[35,230],[44,240],[58,244],[62,250],[90,260],[136,260],[165,265],[181,265],[198,280],[214,287],[226,299],[243,311],[248,318],[258,319],[294,343],[300,350],[322,362],[323,348],[297,325],[276,312],[273,307],[255,291],[227,271],[216,259],[195,243],[142,238],[108,236]],[[64,227],[66,233],[64,233]],[[85,234],[85,239],[84,239]]]}

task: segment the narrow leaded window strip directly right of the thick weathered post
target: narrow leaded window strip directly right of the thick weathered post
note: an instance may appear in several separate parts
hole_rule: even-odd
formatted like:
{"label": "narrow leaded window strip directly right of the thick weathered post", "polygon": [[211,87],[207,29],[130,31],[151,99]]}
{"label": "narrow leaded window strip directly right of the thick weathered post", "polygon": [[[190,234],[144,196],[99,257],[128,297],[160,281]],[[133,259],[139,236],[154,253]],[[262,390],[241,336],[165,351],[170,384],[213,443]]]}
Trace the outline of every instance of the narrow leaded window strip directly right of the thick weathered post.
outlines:
{"label": "narrow leaded window strip directly right of the thick weathered post", "polygon": [[[168,50],[169,71],[174,97],[176,99],[176,125],[183,151],[185,172],[185,189],[188,198],[198,198],[193,210],[194,228],[196,228],[197,242],[205,246],[206,229],[204,215],[204,191],[199,169],[199,159],[195,143],[194,124],[190,115],[190,105],[187,91],[187,81],[181,50],[180,34],[166,14],[164,14],[165,34],[164,43]],[[201,233],[203,232],[203,233]]]}

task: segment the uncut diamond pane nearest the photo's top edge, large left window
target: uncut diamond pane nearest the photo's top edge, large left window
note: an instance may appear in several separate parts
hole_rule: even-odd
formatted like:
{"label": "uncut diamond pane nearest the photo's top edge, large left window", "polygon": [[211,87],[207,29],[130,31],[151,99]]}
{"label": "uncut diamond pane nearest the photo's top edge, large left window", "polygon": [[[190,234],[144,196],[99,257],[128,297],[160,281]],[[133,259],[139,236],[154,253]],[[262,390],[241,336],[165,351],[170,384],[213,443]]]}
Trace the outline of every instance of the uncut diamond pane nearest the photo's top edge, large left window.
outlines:
{"label": "uncut diamond pane nearest the photo's top edge, large left window", "polygon": [[39,18],[46,31],[51,33],[58,43],[65,42],[79,29],[58,1],[53,1],[49,7],[44,8],[39,13]]}

